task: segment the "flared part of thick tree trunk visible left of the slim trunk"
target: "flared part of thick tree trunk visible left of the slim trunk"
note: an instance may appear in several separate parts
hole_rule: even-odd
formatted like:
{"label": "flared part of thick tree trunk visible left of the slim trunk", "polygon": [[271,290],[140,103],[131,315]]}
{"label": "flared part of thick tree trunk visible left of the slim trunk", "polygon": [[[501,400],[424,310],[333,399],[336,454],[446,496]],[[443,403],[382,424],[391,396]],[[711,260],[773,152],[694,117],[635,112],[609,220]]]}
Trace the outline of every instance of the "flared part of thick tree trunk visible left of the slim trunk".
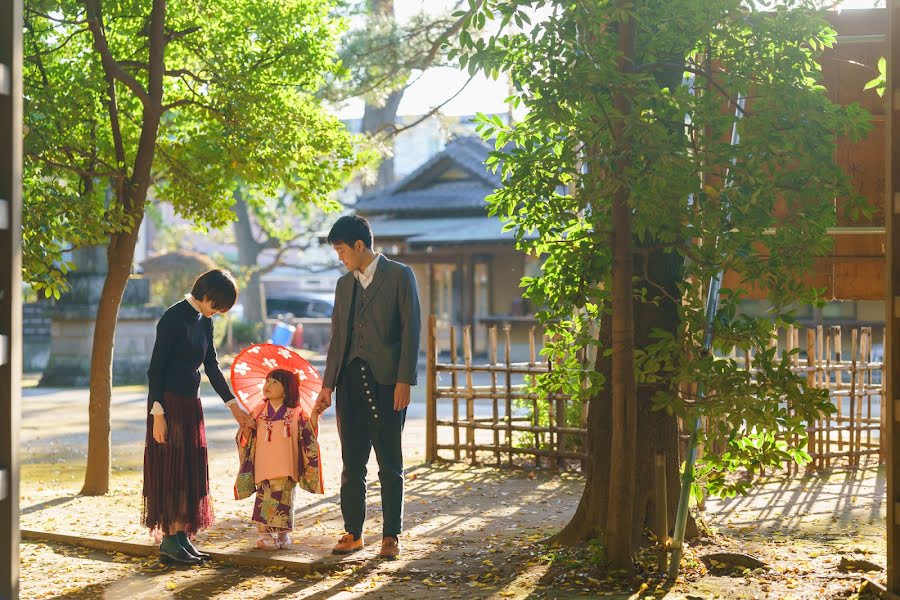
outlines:
{"label": "flared part of thick tree trunk visible left of the slim trunk", "polygon": [[[609,348],[612,342],[612,323],[608,316],[600,321],[600,348]],[[557,533],[552,541],[562,545],[575,545],[600,537],[606,531],[606,514],[609,506],[609,456],[612,439],[612,359],[602,350],[597,352],[594,370],[603,373],[607,384],[591,398],[588,406],[587,464],[585,465],[584,492],[572,520]]]}

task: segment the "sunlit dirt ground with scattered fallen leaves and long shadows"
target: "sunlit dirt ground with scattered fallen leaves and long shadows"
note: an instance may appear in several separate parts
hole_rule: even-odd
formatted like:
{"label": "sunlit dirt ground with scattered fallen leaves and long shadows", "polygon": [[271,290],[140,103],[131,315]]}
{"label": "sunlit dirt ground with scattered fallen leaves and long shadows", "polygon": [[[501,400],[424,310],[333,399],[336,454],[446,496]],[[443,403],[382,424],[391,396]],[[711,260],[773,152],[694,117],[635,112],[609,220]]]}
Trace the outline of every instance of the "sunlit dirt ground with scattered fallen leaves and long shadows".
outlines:
{"label": "sunlit dirt ground with scattered fallen leaves and long shadows", "polygon": [[[211,396],[209,396],[211,398]],[[151,543],[140,524],[146,391],[117,388],[113,401],[113,491],[77,496],[83,476],[86,390],[27,388],[23,398],[22,527]],[[48,407],[52,407],[48,409]],[[198,545],[234,555],[253,549],[252,499],[234,501],[234,426],[218,400],[204,402],[217,523]],[[330,572],[302,575],[283,567],[218,561],[163,567],[156,560],[63,544],[22,543],[21,597],[40,598],[849,598],[861,574],[883,580],[883,470],[833,470],[762,482],[747,497],[710,499],[702,519],[710,535],[688,548],[674,585],[642,554],[631,579],[609,578],[598,549],[570,552],[546,539],[573,514],[583,480],[572,473],[424,463],[424,410],[414,398],[404,434],[406,532],[395,562],[375,557],[380,541],[377,465],[370,462],[368,547]],[[328,413],[321,424],[326,494],[298,492],[295,542],[279,556],[296,562],[328,557],[342,533],[340,449]],[[703,561],[741,552],[764,568]]]}

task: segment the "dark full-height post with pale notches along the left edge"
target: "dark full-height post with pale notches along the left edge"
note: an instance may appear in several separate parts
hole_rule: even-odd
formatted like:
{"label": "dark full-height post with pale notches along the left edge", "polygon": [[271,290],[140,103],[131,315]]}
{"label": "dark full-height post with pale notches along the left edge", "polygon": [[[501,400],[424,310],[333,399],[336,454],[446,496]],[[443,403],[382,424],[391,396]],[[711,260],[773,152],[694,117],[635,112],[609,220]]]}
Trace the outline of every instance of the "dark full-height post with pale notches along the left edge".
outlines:
{"label": "dark full-height post with pale notches along the left edge", "polygon": [[22,0],[0,3],[0,598],[19,596]]}

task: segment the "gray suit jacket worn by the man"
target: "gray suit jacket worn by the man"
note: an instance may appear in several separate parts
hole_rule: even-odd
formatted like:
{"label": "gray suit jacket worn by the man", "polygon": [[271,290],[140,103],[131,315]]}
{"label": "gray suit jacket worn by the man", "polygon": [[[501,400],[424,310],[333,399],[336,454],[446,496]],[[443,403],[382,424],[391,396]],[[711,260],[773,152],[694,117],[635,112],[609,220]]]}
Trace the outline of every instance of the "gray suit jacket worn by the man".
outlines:
{"label": "gray suit jacket worn by the man", "polygon": [[[338,279],[334,293],[331,342],[323,381],[323,385],[331,389],[337,385],[343,366],[355,283],[353,273],[346,273]],[[360,307],[362,322],[354,325],[363,327],[365,354],[375,380],[382,385],[393,385],[398,381],[416,385],[422,317],[412,269],[382,255],[366,292],[368,300]],[[362,294],[357,294],[356,302],[363,302]]]}

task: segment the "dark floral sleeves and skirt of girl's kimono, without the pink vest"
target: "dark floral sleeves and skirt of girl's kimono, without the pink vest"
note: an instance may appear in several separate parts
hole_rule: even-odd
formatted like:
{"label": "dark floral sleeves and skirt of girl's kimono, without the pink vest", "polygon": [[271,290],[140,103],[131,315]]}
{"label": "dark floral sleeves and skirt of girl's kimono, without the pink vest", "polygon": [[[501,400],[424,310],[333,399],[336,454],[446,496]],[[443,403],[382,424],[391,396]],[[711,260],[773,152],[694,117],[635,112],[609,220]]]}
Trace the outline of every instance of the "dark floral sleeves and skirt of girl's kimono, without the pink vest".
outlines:
{"label": "dark floral sleeves and skirt of girl's kimono, without the pink vest", "polygon": [[298,472],[300,473],[300,480],[297,482],[294,482],[290,477],[277,477],[271,480],[264,480],[257,485],[255,475],[256,431],[250,432],[249,440],[242,438],[240,432],[238,432],[236,439],[240,468],[234,483],[234,497],[236,500],[243,500],[255,493],[256,503],[253,508],[253,521],[276,531],[293,529],[295,484],[298,484],[311,494],[325,493],[319,456],[319,442],[316,439],[316,432],[313,430],[312,424],[306,415],[302,413],[298,423],[298,430],[297,442],[300,446]]}

